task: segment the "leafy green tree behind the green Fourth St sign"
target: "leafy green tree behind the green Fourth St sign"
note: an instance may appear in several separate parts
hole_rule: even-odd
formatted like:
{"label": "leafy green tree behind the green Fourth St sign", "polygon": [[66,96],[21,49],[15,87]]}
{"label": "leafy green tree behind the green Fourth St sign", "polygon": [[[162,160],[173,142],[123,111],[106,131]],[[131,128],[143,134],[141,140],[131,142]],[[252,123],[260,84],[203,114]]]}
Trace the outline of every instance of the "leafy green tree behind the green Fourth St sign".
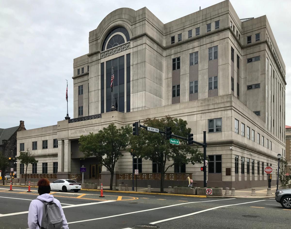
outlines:
{"label": "leafy green tree behind the green Fourth St sign", "polygon": [[[165,116],[161,119],[147,118],[143,125],[164,130],[165,127],[171,127],[172,133],[187,138],[191,133],[191,128],[187,128],[187,121]],[[131,149],[137,157],[142,157],[152,162],[156,162],[161,173],[161,192],[164,191],[164,174],[174,164],[202,163],[203,153],[198,147],[190,147],[186,140],[179,140],[182,144],[174,145],[166,140],[164,134],[150,132],[141,128],[140,136],[132,136],[130,139]],[[131,149],[129,149],[131,151]],[[130,152],[129,151],[129,152]]]}

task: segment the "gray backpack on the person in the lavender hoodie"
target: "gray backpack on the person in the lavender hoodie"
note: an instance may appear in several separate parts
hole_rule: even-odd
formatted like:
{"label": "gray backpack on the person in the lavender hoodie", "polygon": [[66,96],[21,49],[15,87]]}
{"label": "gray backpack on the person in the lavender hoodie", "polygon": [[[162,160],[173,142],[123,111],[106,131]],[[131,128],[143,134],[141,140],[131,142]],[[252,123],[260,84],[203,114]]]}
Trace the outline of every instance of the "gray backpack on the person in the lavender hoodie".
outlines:
{"label": "gray backpack on the person in the lavender hoodie", "polygon": [[[40,200],[36,198],[36,200]],[[41,226],[38,221],[37,224],[40,229],[63,229],[63,217],[61,210],[56,203],[53,201],[45,202],[40,200],[43,205],[43,214],[41,220]]]}

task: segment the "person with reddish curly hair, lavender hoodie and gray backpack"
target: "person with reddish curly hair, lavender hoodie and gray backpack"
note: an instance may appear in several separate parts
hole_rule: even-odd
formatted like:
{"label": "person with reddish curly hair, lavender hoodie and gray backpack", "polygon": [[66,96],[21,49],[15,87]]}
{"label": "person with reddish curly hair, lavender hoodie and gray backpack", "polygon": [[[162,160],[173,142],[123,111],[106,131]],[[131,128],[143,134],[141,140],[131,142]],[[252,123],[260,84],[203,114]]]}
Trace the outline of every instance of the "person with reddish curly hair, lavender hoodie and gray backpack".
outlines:
{"label": "person with reddish curly hair, lavender hoodie and gray backpack", "polygon": [[60,201],[50,195],[50,191],[49,180],[40,179],[39,196],[29,205],[29,229],[69,229]]}

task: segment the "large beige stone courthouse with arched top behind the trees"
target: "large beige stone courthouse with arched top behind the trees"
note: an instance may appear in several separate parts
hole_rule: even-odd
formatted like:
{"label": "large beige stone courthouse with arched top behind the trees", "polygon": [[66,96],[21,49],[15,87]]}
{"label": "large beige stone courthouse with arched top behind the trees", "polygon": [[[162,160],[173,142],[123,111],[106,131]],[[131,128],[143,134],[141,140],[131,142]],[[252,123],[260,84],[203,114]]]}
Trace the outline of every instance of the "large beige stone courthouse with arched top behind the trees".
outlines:
{"label": "large beige stone courthouse with arched top behind the trees", "polygon": [[[109,112],[111,65],[118,107]],[[82,160],[79,137],[110,123],[166,115],[187,120],[196,141],[207,132],[207,186],[266,186],[264,168],[275,172],[285,149],[285,64],[278,45],[266,15],[239,19],[228,0],[166,24],[145,7],[114,10],[89,32],[89,53],[74,59],[72,79],[72,119],[17,133],[17,155],[24,143],[38,159],[30,177],[79,177],[84,165],[86,179],[108,185],[105,167],[95,158]],[[187,174],[202,186],[200,166],[173,166],[165,186],[186,184]],[[157,164],[134,159],[134,167],[140,185],[159,187]],[[123,152],[116,184],[130,184],[131,172],[132,158]]]}

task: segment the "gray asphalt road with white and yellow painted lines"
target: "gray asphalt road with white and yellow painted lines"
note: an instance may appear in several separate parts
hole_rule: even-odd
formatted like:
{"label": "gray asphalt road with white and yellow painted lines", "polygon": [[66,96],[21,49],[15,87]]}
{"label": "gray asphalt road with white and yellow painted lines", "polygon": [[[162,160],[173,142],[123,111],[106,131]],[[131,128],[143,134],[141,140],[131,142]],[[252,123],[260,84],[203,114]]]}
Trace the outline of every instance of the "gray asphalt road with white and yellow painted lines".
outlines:
{"label": "gray asphalt road with white and yellow painted lines", "polygon": [[[27,188],[0,187],[0,228],[26,229],[30,201]],[[274,199],[191,198],[80,191],[54,192],[70,229],[79,228],[290,228],[291,211]],[[136,225],[150,225],[138,227]],[[157,227],[154,227],[157,226]]]}

